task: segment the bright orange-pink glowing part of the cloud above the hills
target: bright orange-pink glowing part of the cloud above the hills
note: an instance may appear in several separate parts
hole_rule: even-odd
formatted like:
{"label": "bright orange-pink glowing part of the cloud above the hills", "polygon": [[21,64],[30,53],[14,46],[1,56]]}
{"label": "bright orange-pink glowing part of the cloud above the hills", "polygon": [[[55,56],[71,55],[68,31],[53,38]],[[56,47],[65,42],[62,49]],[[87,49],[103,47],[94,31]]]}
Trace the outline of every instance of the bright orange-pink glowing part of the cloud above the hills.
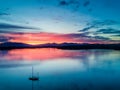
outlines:
{"label": "bright orange-pink glowing part of the cloud above the hills", "polygon": [[[26,34],[9,34],[14,37],[11,42],[22,42],[28,44],[44,44],[44,43],[63,43],[76,42],[73,38],[66,37],[66,34],[54,33],[26,33]],[[79,41],[80,42],[80,41]]]}

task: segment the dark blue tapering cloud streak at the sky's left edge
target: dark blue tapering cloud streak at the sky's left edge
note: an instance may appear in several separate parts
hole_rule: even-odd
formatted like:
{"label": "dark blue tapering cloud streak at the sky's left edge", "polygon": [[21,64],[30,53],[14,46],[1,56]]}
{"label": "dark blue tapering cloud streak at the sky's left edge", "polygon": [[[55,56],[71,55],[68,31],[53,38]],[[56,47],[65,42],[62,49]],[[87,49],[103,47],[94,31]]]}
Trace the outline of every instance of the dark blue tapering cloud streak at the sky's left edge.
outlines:
{"label": "dark blue tapering cloud streak at the sky's left edge", "polygon": [[[19,31],[18,31],[19,30]],[[38,30],[38,28],[0,23],[0,33],[20,32],[25,30]]]}

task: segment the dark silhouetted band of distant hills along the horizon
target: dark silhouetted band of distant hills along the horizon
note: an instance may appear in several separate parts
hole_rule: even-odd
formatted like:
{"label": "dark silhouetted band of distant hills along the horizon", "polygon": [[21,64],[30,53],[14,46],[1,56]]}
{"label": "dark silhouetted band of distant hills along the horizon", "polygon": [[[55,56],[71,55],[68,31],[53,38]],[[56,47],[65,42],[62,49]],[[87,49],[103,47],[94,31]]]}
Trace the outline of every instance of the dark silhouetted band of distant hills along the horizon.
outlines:
{"label": "dark silhouetted band of distant hills along the horizon", "polygon": [[24,43],[6,42],[0,44],[1,50],[9,49],[22,49],[22,48],[58,48],[67,50],[79,50],[79,49],[114,49],[120,50],[120,44],[77,44],[77,43],[46,43],[40,45],[29,45]]}

